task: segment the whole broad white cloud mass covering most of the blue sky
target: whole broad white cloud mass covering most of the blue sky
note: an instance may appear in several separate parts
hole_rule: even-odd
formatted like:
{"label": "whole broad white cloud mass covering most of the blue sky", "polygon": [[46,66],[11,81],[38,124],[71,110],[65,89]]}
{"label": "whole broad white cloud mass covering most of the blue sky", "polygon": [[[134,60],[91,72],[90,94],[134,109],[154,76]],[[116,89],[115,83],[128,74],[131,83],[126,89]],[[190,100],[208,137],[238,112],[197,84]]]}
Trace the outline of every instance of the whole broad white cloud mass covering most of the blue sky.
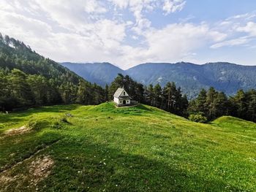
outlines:
{"label": "whole broad white cloud mass covering most of the blue sky", "polygon": [[[154,28],[146,18],[154,9],[165,14],[178,12],[185,3],[183,0],[1,0],[0,31],[56,61],[108,61],[124,69],[144,62],[195,61],[199,56],[197,50],[243,45],[255,36],[252,14],[228,18],[215,26],[182,20]],[[124,9],[132,15],[127,20],[122,18]],[[115,12],[113,18],[111,11]],[[242,23],[243,18],[246,23]],[[241,32],[248,36],[232,36]],[[127,43],[129,38],[136,44]]]}

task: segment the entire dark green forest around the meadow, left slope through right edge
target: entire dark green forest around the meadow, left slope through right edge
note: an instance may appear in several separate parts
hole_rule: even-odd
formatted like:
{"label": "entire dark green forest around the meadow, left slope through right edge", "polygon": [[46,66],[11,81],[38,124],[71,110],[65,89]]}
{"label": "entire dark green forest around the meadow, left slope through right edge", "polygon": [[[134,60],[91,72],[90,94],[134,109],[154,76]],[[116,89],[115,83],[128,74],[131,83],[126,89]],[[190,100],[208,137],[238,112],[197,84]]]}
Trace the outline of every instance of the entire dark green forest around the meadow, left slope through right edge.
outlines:
{"label": "entire dark green forest around the meadow, left slope through right edge", "polygon": [[[196,99],[187,96],[174,82],[143,86],[128,75],[118,74],[105,88],[87,82],[69,69],[35,53],[16,39],[0,34],[0,110],[11,111],[52,104],[100,104],[113,99],[123,87],[132,99],[199,120],[214,120],[222,115],[256,122],[256,91],[238,91],[235,96],[214,88],[202,89]],[[192,119],[192,118],[190,118]]]}

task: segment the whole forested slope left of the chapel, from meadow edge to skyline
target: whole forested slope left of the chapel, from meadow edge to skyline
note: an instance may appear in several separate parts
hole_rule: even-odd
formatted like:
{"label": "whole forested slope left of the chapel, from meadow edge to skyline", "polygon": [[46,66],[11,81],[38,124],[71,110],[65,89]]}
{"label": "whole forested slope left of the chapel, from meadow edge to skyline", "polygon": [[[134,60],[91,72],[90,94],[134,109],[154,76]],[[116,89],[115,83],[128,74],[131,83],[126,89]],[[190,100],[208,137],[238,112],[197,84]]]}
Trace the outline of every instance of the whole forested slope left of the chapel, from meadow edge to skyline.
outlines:
{"label": "whole forested slope left of the chapel, from meadow edge to skyline", "polygon": [[99,104],[104,89],[23,42],[0,34],[0,110],[45,104]]}

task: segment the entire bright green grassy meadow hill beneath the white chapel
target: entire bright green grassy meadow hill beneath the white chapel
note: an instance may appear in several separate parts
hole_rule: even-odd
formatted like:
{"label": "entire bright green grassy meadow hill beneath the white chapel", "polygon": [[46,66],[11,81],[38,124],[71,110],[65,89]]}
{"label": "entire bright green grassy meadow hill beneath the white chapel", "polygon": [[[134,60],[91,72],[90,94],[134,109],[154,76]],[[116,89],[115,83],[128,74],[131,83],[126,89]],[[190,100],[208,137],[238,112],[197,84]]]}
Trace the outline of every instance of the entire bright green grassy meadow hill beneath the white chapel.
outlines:
{"label": "entire bright green grassy meadow hill beneath the white chapel", "polygon": [[255,123],[146,105],[1,114],[0,191],[256,191],[255,146]]}

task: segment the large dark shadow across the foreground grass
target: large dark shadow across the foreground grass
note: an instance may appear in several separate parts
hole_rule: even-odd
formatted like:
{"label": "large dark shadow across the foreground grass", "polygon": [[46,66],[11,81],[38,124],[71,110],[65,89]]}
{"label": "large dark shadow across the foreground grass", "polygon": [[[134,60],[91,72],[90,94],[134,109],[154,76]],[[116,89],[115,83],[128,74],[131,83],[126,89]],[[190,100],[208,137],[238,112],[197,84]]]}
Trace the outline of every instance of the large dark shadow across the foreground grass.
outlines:
{"label": "large dark shadow across the foreground grass", "polygon": [[211,180],[143,155],[123,153],[86,139],[64,139],[51,149],[52,174],[42,191],[240,191],[223,180]]}

